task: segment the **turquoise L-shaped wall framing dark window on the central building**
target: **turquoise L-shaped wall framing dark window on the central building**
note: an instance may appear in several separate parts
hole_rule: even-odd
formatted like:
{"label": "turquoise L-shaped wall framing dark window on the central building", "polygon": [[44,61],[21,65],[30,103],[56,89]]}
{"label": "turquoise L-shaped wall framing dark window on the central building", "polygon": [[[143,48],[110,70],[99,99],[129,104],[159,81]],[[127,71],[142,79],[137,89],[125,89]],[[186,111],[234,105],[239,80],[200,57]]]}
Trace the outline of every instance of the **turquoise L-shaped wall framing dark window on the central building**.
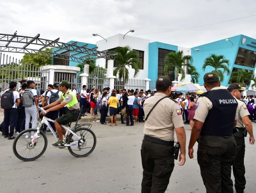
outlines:
{"label": "turquoise L-shaped wall framing dark window on the central building", "polygon": [[178,46],[165,44],[161,42],[149,43],[149,74],[148,78],[151,81],[156,81],[158,78],[158,48],[178,51]]}

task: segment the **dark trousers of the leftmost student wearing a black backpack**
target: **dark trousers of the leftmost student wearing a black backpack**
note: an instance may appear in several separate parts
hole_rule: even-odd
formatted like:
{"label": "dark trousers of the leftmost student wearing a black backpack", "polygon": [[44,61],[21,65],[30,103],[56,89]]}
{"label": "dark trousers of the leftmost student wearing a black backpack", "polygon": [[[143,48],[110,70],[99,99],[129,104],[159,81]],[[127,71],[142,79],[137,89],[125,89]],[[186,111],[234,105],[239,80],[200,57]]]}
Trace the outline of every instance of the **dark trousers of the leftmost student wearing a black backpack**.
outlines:
{"label": "dark trousers of the leftmost student wearing a black backpack", "polygon": [[[4,123],[3,123],[3,133],[5,136],[12,137],[14,133],[14,128],[18,118],[17,109],[4,109]],[[10,126],[10,132],[9,132]]]}

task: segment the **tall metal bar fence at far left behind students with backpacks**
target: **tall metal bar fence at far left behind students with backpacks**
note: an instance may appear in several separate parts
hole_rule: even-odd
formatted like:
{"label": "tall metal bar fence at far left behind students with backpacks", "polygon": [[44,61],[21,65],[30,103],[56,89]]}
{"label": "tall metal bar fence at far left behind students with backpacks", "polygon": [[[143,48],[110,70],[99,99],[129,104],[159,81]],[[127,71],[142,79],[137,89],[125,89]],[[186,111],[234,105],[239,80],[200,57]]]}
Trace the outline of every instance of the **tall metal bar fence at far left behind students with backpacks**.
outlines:
{"label": "tall metal bar fence at far left behind students with backpacks", "polygon": [[35,89],[47,88],[49,72],[41,72],[40,67],[35,67],[30,64],[20,63],[20,60],[11,60],[8,55],[0,53],[0,88],[5,89],[9,86],[9,82],[16,81],[20,87],[19,82],[22,79],[31,80],[35,82]]}

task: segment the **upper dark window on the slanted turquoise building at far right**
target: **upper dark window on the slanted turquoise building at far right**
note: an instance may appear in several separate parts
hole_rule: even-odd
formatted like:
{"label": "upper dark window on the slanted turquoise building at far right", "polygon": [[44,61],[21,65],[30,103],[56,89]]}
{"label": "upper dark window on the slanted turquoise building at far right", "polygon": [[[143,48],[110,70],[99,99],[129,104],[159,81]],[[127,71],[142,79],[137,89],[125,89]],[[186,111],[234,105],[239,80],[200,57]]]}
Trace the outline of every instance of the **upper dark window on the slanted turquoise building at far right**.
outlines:
{"label": "upper dark window on the slanted turquoise building at far right", "polygon": [[236,54],[235,64],[254,68],[256,63],[256,52],[239,47]]}

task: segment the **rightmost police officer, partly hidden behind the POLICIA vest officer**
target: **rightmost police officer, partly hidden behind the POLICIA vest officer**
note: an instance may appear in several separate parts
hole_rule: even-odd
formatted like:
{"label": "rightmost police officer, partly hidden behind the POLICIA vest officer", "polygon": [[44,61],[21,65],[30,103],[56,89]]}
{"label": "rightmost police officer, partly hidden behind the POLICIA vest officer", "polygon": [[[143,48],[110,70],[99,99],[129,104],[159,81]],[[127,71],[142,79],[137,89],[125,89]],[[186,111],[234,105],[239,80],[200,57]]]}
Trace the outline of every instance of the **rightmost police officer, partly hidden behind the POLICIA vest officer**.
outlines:
{"label": "rightmost police officer, partly hidden behind the POLICIA vest officer", "polygon": [[254,144],[255,139],[253,137],[252,131],[252,123],[249,119],[250,113],[247,110],[246,104],[241,101],[242,89],[240,84],[232,83],[229,85],[227,90],[233,95],[237,102],[238,102],[238,119],[236,127],[233,129],[233,135],[236,140],[236,159],[235,163],[233,164],[233,174],[235,177],[235,189],[237,193],[243,193],[245,189],[245,167],[244,167],[244,155],[245,155],[245,142],[244,142],[244,132],[248,132],[249,137],[249,144]]}

